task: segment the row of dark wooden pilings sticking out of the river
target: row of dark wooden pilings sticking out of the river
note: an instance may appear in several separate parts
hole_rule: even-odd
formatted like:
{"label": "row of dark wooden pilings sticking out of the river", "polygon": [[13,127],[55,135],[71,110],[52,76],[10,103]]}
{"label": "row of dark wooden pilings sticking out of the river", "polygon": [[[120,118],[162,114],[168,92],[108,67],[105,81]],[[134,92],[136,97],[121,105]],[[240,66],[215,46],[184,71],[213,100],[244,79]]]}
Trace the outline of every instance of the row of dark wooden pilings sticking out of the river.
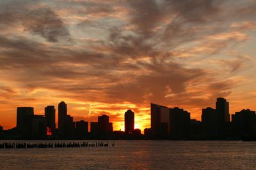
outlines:
{"label": "row of dark wooden pilings sticking out of the river", "polygon": [[[0,148],[81,148],[81,147],[108,147],[109,144],[103,142],[56,142],[56,143],[0,143]],[[115,143],[112,144],[115,146]]]}

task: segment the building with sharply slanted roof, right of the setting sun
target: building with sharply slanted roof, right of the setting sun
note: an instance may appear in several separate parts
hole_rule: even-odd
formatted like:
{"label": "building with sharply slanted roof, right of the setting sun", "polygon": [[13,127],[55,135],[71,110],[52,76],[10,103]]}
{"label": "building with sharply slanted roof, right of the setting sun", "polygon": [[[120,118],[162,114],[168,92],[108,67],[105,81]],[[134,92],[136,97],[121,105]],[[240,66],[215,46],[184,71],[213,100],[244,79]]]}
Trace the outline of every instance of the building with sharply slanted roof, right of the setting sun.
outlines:
{"label": "building with sharply slanted roof, right of the setting sun", "polygon": [[158,104],[150,104],[152,136],[167,136],[170,133],[170,109]]}

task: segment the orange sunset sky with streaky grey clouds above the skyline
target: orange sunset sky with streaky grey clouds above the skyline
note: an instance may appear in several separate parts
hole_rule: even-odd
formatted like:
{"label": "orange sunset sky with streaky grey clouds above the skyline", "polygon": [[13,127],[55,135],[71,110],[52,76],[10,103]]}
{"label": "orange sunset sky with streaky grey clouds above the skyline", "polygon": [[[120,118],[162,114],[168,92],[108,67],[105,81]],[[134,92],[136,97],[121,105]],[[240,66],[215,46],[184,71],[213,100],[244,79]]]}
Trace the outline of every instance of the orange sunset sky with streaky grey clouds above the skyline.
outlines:
{"label": "orange sunset sky with streaky grey clouds above the skyline", "polygon": [[0,0],[0,125],[61,101],[116,131],[128,109],[150,127],[150,103],[256,110],[255,16],[255,0]]}

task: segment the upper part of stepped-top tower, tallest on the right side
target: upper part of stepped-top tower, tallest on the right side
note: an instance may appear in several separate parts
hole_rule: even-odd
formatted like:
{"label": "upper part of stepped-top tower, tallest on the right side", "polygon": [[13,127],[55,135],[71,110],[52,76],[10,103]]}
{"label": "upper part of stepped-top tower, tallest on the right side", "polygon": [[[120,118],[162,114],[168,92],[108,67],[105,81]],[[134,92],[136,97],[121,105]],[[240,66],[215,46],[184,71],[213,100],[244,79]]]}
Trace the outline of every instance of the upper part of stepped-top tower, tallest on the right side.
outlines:
{"label": "upper part of stepped-top tower, tallest on the right side", "polygon": [[230,122],[229,103],[224,98],[217,98],[216,111],[220,115],[220,122]]}

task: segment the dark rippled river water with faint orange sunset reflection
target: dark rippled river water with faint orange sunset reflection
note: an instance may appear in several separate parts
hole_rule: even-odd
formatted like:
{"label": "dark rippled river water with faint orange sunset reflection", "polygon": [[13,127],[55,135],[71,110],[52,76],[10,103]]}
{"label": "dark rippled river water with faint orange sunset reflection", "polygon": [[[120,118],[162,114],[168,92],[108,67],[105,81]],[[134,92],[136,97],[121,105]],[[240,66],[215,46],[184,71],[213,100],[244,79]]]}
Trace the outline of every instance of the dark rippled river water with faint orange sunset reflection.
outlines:
{"label": "dark rippled river water with faint orange sunset reflection", "polygon": [[0,169],[256,169],[256,142],[108,141],[113,142],[97,148],[0,149]]}

